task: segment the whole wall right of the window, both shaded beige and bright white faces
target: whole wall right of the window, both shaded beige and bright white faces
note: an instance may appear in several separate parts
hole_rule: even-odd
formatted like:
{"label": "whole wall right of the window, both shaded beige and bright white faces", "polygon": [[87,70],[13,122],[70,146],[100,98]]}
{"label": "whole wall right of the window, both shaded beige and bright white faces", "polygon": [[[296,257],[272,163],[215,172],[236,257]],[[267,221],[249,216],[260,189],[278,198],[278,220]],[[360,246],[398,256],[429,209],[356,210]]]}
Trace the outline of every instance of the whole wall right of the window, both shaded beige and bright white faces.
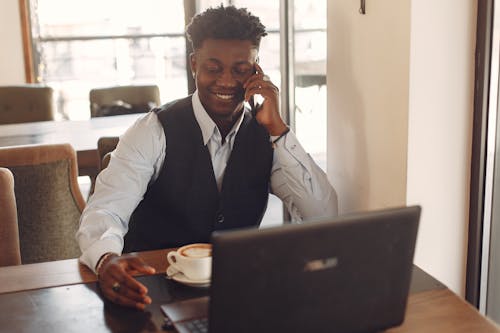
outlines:
{"label": "whole wall right of the window, both shaded beige and bright white faces", "polygon": [[475,2],[358,7],[328,1],[328,175],[341,212],[422,205],[415,263],[463,296]]}

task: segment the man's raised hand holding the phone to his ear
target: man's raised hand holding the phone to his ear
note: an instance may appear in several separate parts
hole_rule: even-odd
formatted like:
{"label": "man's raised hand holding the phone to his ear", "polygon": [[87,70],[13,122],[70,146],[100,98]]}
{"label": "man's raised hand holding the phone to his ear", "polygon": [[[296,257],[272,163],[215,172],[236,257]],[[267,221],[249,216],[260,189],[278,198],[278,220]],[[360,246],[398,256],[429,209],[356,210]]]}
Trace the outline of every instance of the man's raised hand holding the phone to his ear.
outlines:
{"label": "man's raised hand holding the phone to his ear", "polygon": [[255,118],[267,129],[269,135],[281,135],[287,130],[286,124],[279,112],[279,90],[267,75],[264,75],[262,68],[256,63],[256,73],[252,75],[243,85],[245,88],[245,100],[259,94],[264,97],[264,103],[257,110]]}

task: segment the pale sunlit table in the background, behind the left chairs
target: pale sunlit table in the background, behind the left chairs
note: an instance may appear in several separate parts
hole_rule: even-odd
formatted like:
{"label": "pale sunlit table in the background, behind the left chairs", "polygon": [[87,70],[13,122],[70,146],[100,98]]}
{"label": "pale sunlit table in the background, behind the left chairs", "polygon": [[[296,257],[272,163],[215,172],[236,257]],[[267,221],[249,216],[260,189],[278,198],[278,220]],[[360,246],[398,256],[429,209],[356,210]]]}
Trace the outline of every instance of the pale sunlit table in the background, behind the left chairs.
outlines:
{"label": "pale sunlit table in the background, behind the left chairs", "polygon": [[97,140],[123,134],[140,114],[98,117],[88,120],[39,121],[0,125],[0,147],[70,143],[77,153],[80,175],[97,171]]}

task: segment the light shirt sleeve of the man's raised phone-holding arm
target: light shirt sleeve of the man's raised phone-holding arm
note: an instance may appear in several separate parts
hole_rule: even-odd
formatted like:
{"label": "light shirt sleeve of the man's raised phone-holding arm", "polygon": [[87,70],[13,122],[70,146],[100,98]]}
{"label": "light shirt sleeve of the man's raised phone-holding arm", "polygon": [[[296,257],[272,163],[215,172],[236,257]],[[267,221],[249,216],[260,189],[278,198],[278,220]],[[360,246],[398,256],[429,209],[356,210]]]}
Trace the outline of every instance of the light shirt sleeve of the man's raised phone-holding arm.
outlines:
{"label": "light shirt sleeve of the man's raised phone-holding arm", "polygon": [[292,131],[274,144],[271,193],[283,201],[293,222],[338,214],[333,186]]}

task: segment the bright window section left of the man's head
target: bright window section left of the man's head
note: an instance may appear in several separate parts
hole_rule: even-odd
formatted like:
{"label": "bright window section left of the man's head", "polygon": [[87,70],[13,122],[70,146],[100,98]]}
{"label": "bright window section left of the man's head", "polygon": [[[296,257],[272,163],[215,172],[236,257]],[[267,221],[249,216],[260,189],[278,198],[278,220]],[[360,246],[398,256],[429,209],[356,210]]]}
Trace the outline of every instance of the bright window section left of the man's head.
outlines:
{"label": "bright window section left of the man's head", "polygon": [[157,84],[187,94],[182,0],[31,0],[34,72],[57,92],[60,118],[90,117],[90,89]]}

